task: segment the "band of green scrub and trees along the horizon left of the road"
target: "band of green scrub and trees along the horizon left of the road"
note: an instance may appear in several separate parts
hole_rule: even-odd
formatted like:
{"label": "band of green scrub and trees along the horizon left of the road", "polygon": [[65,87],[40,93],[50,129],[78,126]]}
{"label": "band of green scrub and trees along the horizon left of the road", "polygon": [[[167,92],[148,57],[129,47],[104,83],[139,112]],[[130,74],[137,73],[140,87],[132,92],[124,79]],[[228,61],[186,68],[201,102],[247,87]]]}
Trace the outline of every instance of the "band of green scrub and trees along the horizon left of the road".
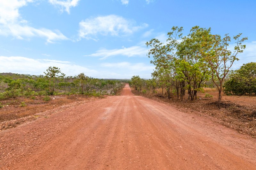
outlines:
{"label": "band of green scrub and trees along the horizon left of the road", "polygon": [[59,68],[49,67],[44,75],[0,73],[0,99],[20,96],[115,94],[128,80],[99,79],[80,73],[65,76]]}

